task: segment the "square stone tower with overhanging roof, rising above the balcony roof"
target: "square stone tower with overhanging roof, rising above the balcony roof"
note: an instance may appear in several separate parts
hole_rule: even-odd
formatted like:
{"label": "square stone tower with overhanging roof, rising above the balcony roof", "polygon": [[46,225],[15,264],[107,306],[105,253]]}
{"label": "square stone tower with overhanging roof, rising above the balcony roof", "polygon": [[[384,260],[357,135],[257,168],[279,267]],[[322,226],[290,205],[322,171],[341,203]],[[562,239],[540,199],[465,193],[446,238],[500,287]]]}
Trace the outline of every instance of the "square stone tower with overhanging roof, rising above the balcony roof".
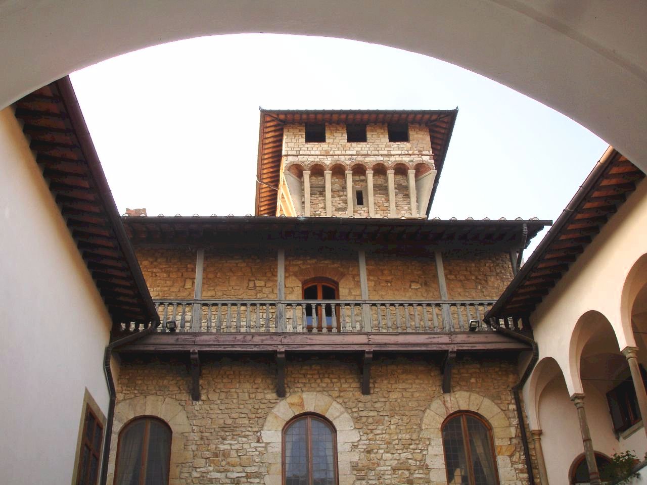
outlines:
{"label": "square stone tower with overhanging roof, rising above the balcony roof", "polygon": [[256,215],[426,219],[456,114],[261,110]]}

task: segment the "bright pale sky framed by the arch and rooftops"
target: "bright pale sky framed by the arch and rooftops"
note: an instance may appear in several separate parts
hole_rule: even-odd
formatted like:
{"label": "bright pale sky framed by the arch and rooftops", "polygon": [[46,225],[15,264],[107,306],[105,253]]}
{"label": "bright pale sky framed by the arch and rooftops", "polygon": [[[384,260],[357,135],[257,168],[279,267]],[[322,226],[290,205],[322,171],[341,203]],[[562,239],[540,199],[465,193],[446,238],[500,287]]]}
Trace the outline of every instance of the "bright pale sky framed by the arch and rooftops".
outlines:
{"label": "bright pale sky framed by the arch and rooftops", "polygon": [[259,107],[458,107],[432,205],[431,217],[441,219],[554,221],[608,146],[479,74],[344,39],[188,39],[108,59],[71,79],[121,213],[253,214]]}

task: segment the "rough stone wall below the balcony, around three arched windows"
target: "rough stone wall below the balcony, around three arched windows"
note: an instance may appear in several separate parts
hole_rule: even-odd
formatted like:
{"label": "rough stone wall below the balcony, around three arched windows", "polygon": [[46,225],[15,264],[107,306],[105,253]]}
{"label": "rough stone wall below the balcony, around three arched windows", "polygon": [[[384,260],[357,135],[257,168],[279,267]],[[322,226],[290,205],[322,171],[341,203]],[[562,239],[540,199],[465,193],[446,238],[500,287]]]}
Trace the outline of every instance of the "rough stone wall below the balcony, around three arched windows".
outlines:
{"label": "rough stone wall below the balcony, around three arched windows", "polygon": [[354,356],[289,356],[285,399],[276,396],[269,358],[203,359],[199,402],[188,393],[184,361],[152,359],[122,362],[112,467],[119,429],[153,415],[173,430],[171,485],[279,485],[281,429],[292,415],[314,411],[337,428],[340,485],[444,484],[440,424],[465,409],[490,421],[501,485],[527,484],[510,392],[514,358],[459,354],[452,393],[442,394],[438,361],[376,356],[365,396]]}

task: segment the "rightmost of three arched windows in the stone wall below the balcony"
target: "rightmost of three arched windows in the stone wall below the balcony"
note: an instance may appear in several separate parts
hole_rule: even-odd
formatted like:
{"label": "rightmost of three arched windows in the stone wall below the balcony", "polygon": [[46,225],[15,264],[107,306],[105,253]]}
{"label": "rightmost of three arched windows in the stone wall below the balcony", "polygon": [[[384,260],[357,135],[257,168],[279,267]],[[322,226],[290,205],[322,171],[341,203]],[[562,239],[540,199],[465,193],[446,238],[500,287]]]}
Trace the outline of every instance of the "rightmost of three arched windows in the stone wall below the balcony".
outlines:
{"label": "rightmost of three arched windows in the stone wall below the balcony", "polygon": [[480,416],[459,412],[442,427],[447,483],[498,485],[490,425]]}

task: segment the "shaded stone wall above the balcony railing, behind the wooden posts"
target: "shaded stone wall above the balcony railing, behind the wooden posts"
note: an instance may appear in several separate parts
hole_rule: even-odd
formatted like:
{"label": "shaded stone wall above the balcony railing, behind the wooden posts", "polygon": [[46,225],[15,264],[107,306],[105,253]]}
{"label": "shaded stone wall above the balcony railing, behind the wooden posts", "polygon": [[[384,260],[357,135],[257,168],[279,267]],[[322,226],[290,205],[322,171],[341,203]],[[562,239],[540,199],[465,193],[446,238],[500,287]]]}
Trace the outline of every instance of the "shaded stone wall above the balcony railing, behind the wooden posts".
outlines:
{"label": "shaded stone wall above the balcony railing, behind the wooden posts", "polygon": [[[195,251],[137,248],[151,296],[193,298]],[[450,299],[496,299],[512,279],[507,253],[461,250],[443,253]],[[440,299],[433,255],[367,250],[370,299]],[[285,296],[301,299],[302,283],[313,277],[337,281],[340,299],[361,299],[356,248],[285,250]],[[210,250],[204,254],[203,298],[276,298],[277,255],[267,250]]]}

